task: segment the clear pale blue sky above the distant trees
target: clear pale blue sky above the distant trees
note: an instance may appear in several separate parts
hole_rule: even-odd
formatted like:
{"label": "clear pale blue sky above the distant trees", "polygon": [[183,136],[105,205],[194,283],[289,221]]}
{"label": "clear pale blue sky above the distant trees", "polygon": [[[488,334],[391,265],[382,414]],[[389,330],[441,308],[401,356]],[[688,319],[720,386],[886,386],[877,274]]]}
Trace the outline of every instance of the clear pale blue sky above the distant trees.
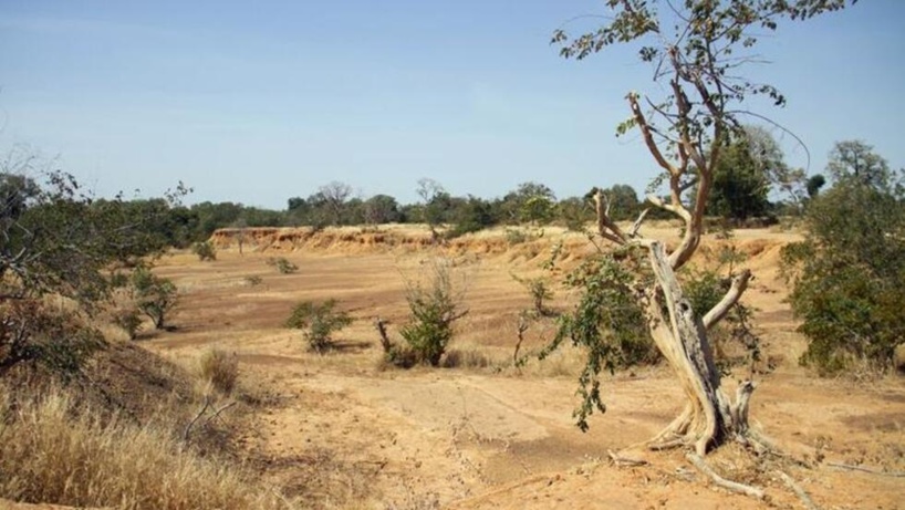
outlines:
{"label": "clear pale blue sky above the distant trees", "polygon": [[[25,145],[98,196],[284,209],[330,181],[362,198],[558,197],[644,190],[657,168],[615,136],[630,91],[657,93],[631,48],[581,62],[553,30],[593,29],[603,0],[0,0],[0,154]],[[861,0],[763,34],[745,71],[788,105],[753,107],[787,162],[823,171],[862,139],[905,166],[905,1]],[[761,107],[762,106],[762,107]],[[807,147],[807,149],[805,149]]]}

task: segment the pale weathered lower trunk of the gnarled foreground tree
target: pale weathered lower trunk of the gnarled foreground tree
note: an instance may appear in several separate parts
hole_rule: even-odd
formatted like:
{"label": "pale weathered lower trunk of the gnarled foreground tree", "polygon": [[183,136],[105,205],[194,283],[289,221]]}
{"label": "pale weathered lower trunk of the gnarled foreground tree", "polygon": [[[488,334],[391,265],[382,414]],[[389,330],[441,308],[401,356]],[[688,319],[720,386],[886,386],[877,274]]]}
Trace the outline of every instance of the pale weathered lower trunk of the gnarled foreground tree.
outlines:
{"label": "pale weathered lower trunk of the gnarled foreground tree", "polygon": [[683,296],[663,244],[651,241],[648,248],[657,279],[646,296],[648,327],[688,400],[682,414],[651,440],[651,447],[694,445],[703,456],[728,439],[747,441],[748,402],[753,384],[742,383],[737,402],[730,403],[720,388],[720,374],[704,322]]}

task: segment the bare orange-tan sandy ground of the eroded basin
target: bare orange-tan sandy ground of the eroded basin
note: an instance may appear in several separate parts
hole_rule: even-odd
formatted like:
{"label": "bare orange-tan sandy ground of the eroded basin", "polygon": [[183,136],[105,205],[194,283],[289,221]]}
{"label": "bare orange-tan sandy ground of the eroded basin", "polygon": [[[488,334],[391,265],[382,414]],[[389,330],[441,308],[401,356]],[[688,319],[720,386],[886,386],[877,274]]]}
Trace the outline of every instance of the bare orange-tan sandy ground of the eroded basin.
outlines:
{"label": "bare orange-tan sandy ground of the eroded basin", "polygon": [[[530,304],[512,274],[541,274],[559,236],[514,247],[472,239],[472,249],[466,242],[446,250],[363,247],[352,238],[280,252],[247,243],[245,254],[233,246],[208,263],[178,253],[158,269],[184,294],[173,318],[177,329],[148,333],[143,345],[183,363],[209,346],[237,353],[242,384],[278,395],[241,438],[250,462],[313,507],[802,508],[780,481],[776,470],[782,469],[821,508],[905,508],[905,478],[834,466],[905,471],[905,383],[819,379],[797,366],[803,341],[777,274],[779,249],[793,235],[749,230],[731,241],[749,254],[745,264],[757,280],[746,302],[759,311],[757,326],[776,365],[756,376],[752,419],[789,457],[757,462],[727,447],[708,459],[727,477],[764,487],[766,501],[712,487],[682,452],[631,449],[680,410],[667,370],[608,377],[608,410],[594,415],[583,434],[571,417],[580,353],[564,350],[512,367],[517,315]],[[573,252],[592,249],[575,238],[566,244]],[[374,318],[388,319],[392,330],[404,323],[406,279],[450,252],[470,310],[451,347],[480,354],[487,366],[382,370]],[[266,264],[273,256],[287,257],[299,272],[278,274]],[[249,282],[254,275],[259,284]],[[282,324],[298,301],[326,298],[340,300],[356,321],[339,335],[340,348],[316,355]],[[568,300],[560,290],[558,303]],[[530,331],[523,348],[537,350],[542,334]],[[608,451],[625,448],[649,465],[613,466]]]}

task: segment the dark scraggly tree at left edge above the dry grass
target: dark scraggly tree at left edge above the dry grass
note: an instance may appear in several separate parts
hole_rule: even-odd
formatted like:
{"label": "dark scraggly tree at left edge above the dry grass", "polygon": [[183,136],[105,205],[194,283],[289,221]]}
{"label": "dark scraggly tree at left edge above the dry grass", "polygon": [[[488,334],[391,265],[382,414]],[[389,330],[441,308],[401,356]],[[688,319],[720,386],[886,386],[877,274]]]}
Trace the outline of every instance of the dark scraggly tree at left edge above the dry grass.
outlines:
{"label": "dark scraggly tree at left edge above the dry grass", "polygon": [[[92,319],[115,288],[111,270],[165,248],[156,229],[168,207],[141,216],[122,198],[98,204],[46,168],[23,148],[0,162],[0,372],[32,361],[76,371],[104,345]],[[73,309],[48,306],[48,295]]]}

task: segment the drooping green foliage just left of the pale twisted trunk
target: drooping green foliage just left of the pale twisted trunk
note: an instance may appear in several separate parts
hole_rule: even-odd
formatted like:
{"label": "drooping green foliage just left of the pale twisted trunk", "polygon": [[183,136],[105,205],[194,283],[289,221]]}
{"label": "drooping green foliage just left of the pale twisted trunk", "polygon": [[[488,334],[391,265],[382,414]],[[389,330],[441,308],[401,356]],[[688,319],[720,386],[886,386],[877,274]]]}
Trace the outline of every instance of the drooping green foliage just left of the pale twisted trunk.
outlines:
{"label": "drooping green foliage just left of the pale twisted trunk", "polygon": [[578,389],[582,402],[573,414],[582,430],[587,429],[587,417],[594,409],[606,410],[600,395],[601,371],[659,358],[637,299],[637,275],[646,272],[641,256],[635,248],[620,249],[571,271],[565,283],[579,293],[579,303],[559,318],[556,335],[540,353],[540,358],[545,358],[565,340],[585,351]]}

